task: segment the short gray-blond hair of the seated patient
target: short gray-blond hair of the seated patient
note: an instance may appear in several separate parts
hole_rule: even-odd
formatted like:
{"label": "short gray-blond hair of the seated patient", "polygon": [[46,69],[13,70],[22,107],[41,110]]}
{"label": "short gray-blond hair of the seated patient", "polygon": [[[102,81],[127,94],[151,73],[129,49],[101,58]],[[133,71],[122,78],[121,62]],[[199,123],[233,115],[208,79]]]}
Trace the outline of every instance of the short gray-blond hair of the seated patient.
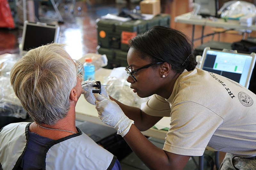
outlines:
{"label": "short gray-blond hair of the seated patient", "polygon": [[40,124],[54,125],[68,113],[69,94],[76,86],[76,66],[64,46],[51,43],[31,49],[10,73],[16,96]]}

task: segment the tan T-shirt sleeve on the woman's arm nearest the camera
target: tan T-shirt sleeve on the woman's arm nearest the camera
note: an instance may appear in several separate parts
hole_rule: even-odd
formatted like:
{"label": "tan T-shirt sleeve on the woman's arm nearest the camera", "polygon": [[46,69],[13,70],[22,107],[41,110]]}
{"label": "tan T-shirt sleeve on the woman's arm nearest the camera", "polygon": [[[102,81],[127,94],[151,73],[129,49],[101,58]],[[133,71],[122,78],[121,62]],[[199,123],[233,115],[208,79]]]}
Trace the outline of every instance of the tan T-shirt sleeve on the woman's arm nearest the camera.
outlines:
{"label": "tan T-shirt sleeve on the woman's arm nearest the camera", "polygon": [[179,155],[201,156],[223,119],[212,110],[190,101],[172,107],[171,127],[163,150]]}

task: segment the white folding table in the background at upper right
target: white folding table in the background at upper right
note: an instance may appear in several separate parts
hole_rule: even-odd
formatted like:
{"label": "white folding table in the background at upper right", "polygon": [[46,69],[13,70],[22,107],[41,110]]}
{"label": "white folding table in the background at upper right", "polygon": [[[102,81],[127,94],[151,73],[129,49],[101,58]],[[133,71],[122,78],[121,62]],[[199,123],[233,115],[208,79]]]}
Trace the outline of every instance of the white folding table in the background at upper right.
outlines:
{"label": "white folding table in the background at upper right", "polygon": [[212,26],[212,27],[222,27],[225,29],[236,29],[236,30],[243,30],[244,33],[256,31],[256,25],[252,26],[242,26],[240,25],[238,20],[228,19],[224,20],[222,18],[215,18],[215,19],[209,19],[209,18],[190,18],[191,12],[178,15],[174,18],[175,22],[184,23],[184,24],[191,24],[192,27],[192,42],[197,40],[194,39],[194,32],[195,32],[195,25],[202,26],[202,35],[200,37],[201,43],[203,43],[203,38],[205,36],[213,35],[214,33],[204,35],[204,26]]}

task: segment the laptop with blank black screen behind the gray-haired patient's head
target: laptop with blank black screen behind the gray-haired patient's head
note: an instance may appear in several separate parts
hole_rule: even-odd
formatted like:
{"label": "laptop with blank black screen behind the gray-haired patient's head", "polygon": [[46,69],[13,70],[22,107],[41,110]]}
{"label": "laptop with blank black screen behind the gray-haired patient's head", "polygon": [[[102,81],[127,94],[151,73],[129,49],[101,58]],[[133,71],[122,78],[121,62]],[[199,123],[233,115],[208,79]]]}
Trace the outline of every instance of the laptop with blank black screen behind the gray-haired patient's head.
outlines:
{"label": "laptop with blank black screen behind the gray-haired patient's head", "polygon": [[25,21],[22,32],[20,55],[24,56],[30,49],[58,42],[60,26],[42,22]]}

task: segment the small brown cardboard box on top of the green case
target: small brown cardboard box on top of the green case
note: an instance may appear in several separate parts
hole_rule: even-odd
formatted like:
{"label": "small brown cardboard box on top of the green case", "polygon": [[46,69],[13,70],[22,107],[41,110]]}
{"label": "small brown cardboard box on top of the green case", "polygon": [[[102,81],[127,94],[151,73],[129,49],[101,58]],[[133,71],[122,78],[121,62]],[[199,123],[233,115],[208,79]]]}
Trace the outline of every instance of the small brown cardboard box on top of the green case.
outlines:
{"label": "small brown cardboard box on top of the green case", "polygon": [[161,13],[160,0],[143,0],[140,1],[140,11],[143,14],[157,15]]}

